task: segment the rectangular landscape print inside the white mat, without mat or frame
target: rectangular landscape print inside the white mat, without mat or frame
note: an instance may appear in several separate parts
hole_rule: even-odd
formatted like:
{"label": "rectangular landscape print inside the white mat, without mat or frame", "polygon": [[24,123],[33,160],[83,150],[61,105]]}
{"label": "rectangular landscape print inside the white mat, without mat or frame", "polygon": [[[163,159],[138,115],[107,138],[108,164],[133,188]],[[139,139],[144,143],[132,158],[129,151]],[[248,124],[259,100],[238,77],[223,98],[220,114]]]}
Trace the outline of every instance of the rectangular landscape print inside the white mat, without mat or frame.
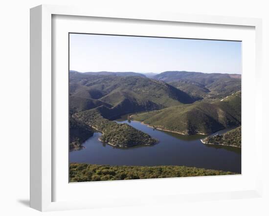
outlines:
{"label": "rectangular landscape print inside the white mat, without mat or frame", "polygon": [[241,174],[241,46],[69,33],[69,182]]}

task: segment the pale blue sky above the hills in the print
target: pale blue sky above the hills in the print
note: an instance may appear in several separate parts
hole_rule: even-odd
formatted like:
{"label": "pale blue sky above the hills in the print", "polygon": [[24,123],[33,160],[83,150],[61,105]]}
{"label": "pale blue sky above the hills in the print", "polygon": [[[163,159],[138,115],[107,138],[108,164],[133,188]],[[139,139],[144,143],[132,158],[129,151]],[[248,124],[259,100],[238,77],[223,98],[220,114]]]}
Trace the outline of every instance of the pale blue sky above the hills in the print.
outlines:
{"label": "pale blue sky above the hills in the print", "polygon": [[241,42],[69,34],[69,69],[241,74]]}

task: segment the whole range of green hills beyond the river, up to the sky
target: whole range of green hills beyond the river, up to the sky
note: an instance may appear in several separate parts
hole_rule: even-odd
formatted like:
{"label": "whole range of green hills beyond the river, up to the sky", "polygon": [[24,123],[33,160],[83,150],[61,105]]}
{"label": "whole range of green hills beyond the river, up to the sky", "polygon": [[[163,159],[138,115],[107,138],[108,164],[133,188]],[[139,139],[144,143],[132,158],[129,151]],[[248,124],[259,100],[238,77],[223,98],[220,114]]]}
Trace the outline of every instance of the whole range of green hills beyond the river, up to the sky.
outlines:
{"label": "whole range of green hills beyond the river, up to the sky", "polygon": [[[173,80],[172,85],[156,76]],[[69,113],[75,118],[70,120],[70,149],[81,148],[90,127],[103,132],[102,141],[117,147],[157,143],[148,134],[111,121],[127,113],[144,112],[133,118],[183,134],[207,134],[241,124],[241,92],[235,91],[241,88],[238,75],[176,71],[156,76],[70,71]],[[216,99],[221,95],[222,100]]]}

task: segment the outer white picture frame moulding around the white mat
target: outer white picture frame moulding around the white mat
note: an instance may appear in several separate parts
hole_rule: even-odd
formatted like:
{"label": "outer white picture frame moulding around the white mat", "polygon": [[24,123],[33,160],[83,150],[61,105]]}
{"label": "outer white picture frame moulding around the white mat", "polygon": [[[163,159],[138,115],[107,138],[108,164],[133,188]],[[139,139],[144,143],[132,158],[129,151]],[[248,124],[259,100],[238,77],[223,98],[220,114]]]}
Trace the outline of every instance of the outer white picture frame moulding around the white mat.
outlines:
{"label": "outer white picture frame moulding around the white mat", "polygon": [[[252,26],[255,28],[255,130],[262,125],[262,92],[261,85],[261,52],[262,21],[253,18],[234,18],[221,16],[184,15],[170,13],[130,13],[124,11],[101,11],[94,8],[75,8],[55,5],[40,5],[30,10],[30,207],[39,211],[83,209],[102,207],[104,203],[96,200],[53,201],[53,118],[54,95],[52,76],[52,16],[70,15],[79,17],[117,18],[140,21],[165,21],[185,23],[208,23],[216,25]],[[255,136],[255,159],[262,163],[262,138]],[[244,197],[260,197],[262,194],[262,166],[255,173],[255,188],[229,192],[159,194],[151,195],[151,204],[177,203],[181,201],[229,199]],[[152,180],[144,180],[152,181]],[[162,179],[166,181],[166,179]],[[118,181],[118,187],[121,181]],[[134,182],[134,181],[133,181]],[[103,183],[104,186],[106,183]],[[102,187],[101,185],[101,187]],[[107,185],[108,187],[108,185]],[[118,197],[120,199],[120,197]],[[143,197],[117,205],[115,202],[106,206],[128,206],[145,204]]]}

